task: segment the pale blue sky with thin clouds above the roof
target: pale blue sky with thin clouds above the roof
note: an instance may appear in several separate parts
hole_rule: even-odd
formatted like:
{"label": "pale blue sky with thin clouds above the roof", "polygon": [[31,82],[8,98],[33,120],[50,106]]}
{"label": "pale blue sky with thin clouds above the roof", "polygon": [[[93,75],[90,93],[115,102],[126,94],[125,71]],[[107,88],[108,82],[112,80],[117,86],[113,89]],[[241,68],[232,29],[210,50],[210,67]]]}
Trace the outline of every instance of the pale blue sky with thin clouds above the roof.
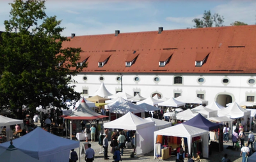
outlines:
{"label": "pale blue sky with thin clouds above the roof", "polygon": [[[0,31],[9,20],[13,0],[0,0]],[[256,23],[255,0],[47,0],[48,17],[65,27],[63,36],[111,34],[193,28],[204,11],[224,17],[224,26],[240,21]]]}

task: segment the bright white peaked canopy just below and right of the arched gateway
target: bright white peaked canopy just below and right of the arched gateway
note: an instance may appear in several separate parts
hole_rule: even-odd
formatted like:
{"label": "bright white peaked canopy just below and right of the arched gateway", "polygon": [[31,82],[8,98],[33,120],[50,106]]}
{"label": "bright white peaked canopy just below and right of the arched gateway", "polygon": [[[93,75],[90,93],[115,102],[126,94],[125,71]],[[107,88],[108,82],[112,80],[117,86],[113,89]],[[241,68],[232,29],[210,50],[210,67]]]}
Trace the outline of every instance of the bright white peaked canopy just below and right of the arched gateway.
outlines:
{"label": "bright white peaked canopy just below and right of the arched gateway", "polygon": [[241,108],[236,102],[231,103],[227,108],[223,108],[218,112],[218,116],[227,116],[232,119],[237,119],[240,117],[247,119],[247,117],[250,117],[250,114],[250,110]]}

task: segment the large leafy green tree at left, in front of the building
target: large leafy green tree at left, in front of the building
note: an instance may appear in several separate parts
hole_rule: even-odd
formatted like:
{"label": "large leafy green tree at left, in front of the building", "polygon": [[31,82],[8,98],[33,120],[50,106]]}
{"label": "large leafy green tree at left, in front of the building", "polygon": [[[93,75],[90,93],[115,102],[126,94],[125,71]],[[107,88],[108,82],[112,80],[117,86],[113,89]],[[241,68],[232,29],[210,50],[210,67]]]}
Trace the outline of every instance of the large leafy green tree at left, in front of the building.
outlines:
{"label": "large leafy green tree at left, in front of the building", "polygon": [[44,0],[16,0],[0,43],[0,108],[10,108],[17,118],[22,106],[31,114],[36,107],[67,108],[66,99],[80,98],[72,76],[86,67],[77,66],[81,48],[61,48],[64,28],[56,17],[47,17]]}

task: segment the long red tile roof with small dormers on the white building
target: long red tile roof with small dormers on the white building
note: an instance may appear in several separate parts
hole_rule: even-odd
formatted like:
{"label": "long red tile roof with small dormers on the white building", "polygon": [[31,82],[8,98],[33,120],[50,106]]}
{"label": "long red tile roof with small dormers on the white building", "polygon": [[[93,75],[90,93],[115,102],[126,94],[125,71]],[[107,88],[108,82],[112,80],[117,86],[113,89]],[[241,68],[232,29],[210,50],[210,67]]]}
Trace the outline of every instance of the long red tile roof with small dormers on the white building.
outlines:
{"label": "long red tile roof with small dormers on the white building", "polygon": [[[163,31],[75,36],[63,48],[81,47],[88,55],[88,68],[97,73],[256,73],[256,26],[207,27]],[[131,67],[125,61],[136,50],[138,58]],[[159,67],[161,55],[173,54],[168,64]],[[102,54],[111,55],[98,67]],[[198,54],[209,54],[201,67],[195,66]],[[204,55],[200,55],[204,57]]]}

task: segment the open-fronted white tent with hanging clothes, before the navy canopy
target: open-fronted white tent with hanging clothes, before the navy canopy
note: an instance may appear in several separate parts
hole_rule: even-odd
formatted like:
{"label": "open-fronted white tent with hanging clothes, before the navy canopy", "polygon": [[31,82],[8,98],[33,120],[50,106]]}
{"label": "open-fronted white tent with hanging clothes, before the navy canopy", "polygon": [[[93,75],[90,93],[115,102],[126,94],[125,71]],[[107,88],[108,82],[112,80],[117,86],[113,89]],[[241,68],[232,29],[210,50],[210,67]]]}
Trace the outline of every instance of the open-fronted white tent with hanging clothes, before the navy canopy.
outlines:
{"label": "open-fronted white tent with hanging clothes, before the navy canopy", "polygon": [[[191,154],[191,145],[192,138],[195,136],[201,136],[203,141],[203,157],[208,158],[208,131],[200,128],[195,128],[193,126],[188,126],[186,124],[177,124],[170,128],[161,129],[159,131],[154,132],[154,144],[156,144],[157,135],[164,136],[179,136],[188,139],[188,152]],[[156,152],[156,145],[154,145],[154,152]],[[156,158],[156,154],[154,154],[154,158]]]}

